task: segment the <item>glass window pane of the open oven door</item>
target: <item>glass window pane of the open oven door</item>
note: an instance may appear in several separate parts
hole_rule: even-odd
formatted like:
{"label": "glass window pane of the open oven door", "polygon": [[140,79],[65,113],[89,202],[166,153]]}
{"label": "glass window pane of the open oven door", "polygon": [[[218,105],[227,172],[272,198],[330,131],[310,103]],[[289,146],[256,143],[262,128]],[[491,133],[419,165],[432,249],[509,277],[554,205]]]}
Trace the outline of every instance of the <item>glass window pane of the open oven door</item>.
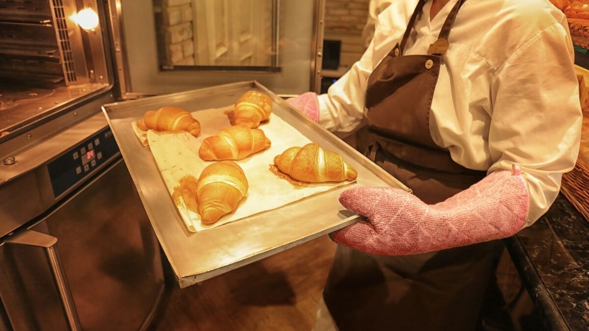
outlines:
{"label": "glass window pane of the open oven door", "polygon": [[160,70],[280,71],[279,1],[153,2]]}

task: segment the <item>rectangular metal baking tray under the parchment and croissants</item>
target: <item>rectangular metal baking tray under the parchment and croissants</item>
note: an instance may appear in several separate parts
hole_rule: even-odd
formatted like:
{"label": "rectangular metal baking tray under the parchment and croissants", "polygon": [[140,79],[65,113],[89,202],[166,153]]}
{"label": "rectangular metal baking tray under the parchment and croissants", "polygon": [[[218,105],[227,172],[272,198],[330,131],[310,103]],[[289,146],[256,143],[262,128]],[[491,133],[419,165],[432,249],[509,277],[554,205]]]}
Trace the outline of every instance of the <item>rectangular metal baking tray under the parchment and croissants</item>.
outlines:
{"label": "rectangular metal baking tray under the parchment and croissants", "polygon": [[131,121],[164,105],[189,110],[193,110],[194,105],[203,110],[225,107],[249,90],[269,95],[274,102],[275,115],[322,148],[342,155],[358,171],[357,184],[399,187],[409,191],[358,151],[308,120],[256,81],[104,105],[102,111],[181,288],[342,229],[360,219],[337,200],[339,194],[350,187],[345,186],[207,231],[188,232],[150,150],[141,145],[131,130]]}

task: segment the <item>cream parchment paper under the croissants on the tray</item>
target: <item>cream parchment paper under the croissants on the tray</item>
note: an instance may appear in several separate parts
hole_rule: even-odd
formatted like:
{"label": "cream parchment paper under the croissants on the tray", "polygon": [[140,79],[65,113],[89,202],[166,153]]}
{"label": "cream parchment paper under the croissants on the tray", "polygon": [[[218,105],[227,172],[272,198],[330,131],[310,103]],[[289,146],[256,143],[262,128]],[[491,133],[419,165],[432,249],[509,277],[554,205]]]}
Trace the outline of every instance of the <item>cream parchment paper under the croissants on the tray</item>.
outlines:
{"label": "cream parchment paper under the croissants on the tray", "polygon": [[[233,109],[232,105],[193,112],[193,117],[201,124],[201,134],[198,138],[186,132],[156,133],[152,130],[147,132],[149,147],[145,148],[151,148],[151,153],[166,183],[170,196],[174,191],[174,187],[180,185],[181,178],[188,175],[198,178],[204,167],[214,162],[203,161],[198,156],[198,149],[204,138],[230,126],[224,112],[231,109]],[[139,130],[135,123],[132,125],[137,138],[144,144],[142,136],[145,131]],[[259,128],[264,131],[266,137],[272,142],[270,148],[250,155],[243,160],[235,161],[243,168],[249,183],[246,198],[240,202],[239,207],[233,214],[222,217],[210,226],[201,224],[200,215],[188,210],[182,198],[178,199],[179,201],[175,201],[176,207],[188,230],[198,232],[212,229],[231,221],[273,210],[303,198],[350,184],[349,181],[344,181],[342,183],[308,184],[305,187],[297,187],[289,183],[289,181],[277,177],[269,170],[274,157],[282,154],[287,148],[293,146],[302,147],[311,141],[274,114],[270,116],[268,123],[260,125]]]}

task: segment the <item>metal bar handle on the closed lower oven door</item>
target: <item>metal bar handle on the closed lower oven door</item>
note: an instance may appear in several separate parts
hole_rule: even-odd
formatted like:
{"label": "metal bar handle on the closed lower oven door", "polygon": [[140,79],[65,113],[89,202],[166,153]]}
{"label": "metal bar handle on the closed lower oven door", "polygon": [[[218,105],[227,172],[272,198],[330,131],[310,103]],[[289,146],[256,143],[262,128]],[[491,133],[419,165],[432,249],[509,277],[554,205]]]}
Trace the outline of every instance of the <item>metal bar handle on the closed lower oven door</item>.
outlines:
{"label": "metal bar handle on the closed lower oven door", "polygon": [[49,266],[51,267],[51,274],[55,285],[57,286],[57,292],[59,293],[59,299],[61,300],[62,308],[64,309],[65,316],[67,316],[68,325],[70,330],[79,331],[80,319],[78,313],[75,310],[74,300],[70,292],[70,286],[65,278],[64,267],[59,260],[59,254],[57,253],[57,238],[49,236],[48,234],[27,230],[22,233],[16,234],[11,239],[6,240],[7,244],[25,245],[42,247],[45,251],[45,255],[49,260]]}

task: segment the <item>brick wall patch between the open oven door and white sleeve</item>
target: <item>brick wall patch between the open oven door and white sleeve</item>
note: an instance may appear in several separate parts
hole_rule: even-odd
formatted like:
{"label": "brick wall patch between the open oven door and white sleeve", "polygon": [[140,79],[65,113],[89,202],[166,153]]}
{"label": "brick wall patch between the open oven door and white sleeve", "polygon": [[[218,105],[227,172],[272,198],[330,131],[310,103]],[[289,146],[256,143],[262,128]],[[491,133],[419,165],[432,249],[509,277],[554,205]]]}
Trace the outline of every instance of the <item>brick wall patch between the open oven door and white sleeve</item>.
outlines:
{"label": "brick wall patch between the open oven door and white sleeve", "polygon": [[325,31],[362,34],[369,0],[326,0]]}

